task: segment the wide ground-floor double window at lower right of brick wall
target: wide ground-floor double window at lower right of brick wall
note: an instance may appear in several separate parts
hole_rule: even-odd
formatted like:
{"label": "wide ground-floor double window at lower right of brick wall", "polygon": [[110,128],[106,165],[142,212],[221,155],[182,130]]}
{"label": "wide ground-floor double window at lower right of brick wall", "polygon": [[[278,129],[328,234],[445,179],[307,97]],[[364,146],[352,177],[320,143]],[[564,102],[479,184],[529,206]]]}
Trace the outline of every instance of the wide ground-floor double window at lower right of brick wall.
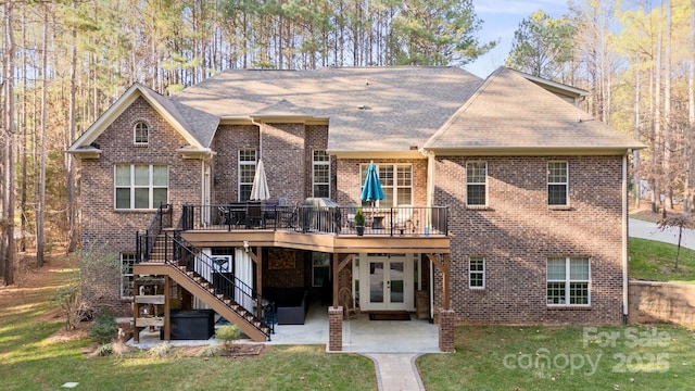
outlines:
{"label": "wide ground-floor double window at lower right of brick wall", "polygon": [[547,260],[547,304],[589,305],[589,258]]}

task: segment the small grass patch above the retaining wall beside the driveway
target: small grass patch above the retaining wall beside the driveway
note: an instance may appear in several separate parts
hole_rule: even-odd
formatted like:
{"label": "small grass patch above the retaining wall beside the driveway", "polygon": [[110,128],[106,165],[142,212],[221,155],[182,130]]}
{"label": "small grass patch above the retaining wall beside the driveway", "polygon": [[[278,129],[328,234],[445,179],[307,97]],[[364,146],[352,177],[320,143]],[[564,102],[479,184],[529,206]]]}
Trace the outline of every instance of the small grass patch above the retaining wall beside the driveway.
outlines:
{"label": "small grass patch above the retaining wall beside the driveway", "polygon": [[674,269],[677,245],[630,238],[630,278],[695,283],[695,251],[681,247]]}

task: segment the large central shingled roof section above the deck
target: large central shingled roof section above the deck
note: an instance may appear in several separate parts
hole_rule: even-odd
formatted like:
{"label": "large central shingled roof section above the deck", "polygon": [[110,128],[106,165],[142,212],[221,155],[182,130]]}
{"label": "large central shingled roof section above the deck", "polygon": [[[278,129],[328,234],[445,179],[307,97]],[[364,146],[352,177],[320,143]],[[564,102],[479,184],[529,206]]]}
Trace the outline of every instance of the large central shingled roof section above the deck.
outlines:
{"label": "large central shingled roof section above the deck", "polygon": [[223,121],[329,121],[331,153],[388,153],[422,147],[482,81],[458,67],[228,70],[172,100]]}

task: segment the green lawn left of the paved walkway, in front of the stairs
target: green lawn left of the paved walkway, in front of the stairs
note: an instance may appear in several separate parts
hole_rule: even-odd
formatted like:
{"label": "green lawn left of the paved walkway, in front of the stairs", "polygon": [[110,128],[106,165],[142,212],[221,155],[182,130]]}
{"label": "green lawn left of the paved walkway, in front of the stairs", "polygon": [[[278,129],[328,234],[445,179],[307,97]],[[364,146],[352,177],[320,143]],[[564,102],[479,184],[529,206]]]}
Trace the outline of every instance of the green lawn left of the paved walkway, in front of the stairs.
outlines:
{"label": "green lawn left of the paved walkway, in front of the stairs", "polygon": [[[64,323],[47,316],[60,274],[15,294],[0,312],[0,389],[60,390],[375,390],[370,360],[326,353],[324,345],[267,346],[258,356],[87,358],[91,344],[49,339]],[[8,294],[9,292],[0,292]]]}

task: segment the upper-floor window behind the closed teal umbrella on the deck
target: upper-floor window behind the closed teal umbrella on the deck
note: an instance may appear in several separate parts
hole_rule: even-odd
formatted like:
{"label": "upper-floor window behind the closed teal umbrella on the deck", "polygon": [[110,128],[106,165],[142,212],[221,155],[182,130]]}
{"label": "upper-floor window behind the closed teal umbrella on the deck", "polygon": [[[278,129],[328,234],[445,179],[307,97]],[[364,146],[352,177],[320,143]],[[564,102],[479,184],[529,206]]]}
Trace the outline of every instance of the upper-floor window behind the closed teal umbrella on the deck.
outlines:
{"label": "upper-floor window behind the closed teal umbrella on the deck", "polygon": [[[368,164],[362,165],[362,180],[364,186],[367,178]],[[413,166],[409,164],[378,164],[379,181],[383,190],[383,200],[377,201],[377,206],[399,206],[413,204]],[[361,189],[362,191],[362,189]],[[370,202],[363,202],[368,206]]]}

